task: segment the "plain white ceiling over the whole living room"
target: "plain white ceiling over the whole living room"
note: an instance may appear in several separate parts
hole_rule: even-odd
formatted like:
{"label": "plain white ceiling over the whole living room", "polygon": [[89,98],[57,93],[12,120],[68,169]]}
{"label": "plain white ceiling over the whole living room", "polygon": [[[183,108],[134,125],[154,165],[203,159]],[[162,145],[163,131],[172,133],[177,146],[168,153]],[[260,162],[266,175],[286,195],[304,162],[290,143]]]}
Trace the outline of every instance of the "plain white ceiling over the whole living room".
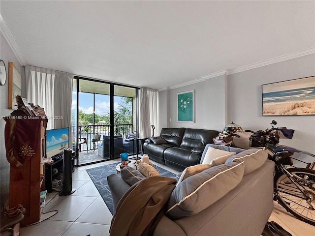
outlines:
{"label": "plain white ceiling over the whole living room", "polygon": [[23,65],[153,89],[315,47],[314,0],[0,0],[0,13]]}

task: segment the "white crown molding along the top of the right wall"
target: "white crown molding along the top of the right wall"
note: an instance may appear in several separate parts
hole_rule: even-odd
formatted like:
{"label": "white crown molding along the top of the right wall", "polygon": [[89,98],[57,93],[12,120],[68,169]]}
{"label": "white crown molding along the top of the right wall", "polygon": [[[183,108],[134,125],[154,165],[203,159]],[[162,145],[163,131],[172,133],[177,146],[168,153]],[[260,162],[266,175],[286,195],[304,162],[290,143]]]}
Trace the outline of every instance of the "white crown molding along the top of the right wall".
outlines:
{"label": "white crown molding along the top of the right wall", "polygon": [[276,57],[276,58],[272,58],[272,59],[268,59],[268,60],[263,60],[263,61],[259,61],[256,63],[252,63],[250,65],[245,65],[245,66],[241,66],[235,69],[231,69],[228,71],[228,74],[235,74],[235,73],[239,73],[239,72],[243,72],[246,70],[251,70],[251,69],[255,69],[258,67],[262,67],[265,65],[270,65],[270,64],[274,64],[274,63],[278,63],[281,61],[285,61],[285,60],[289,60],[289,59],[294,59],[294,58],[299,58],[299,57],[303,57],[306,55],[310,55],[310,54],[314,54],[315,53],[315,47],[312,48],[308,48],[308,49],[304,49],[298,52],[294,52],[294,53],[289,53],[280,57]]}

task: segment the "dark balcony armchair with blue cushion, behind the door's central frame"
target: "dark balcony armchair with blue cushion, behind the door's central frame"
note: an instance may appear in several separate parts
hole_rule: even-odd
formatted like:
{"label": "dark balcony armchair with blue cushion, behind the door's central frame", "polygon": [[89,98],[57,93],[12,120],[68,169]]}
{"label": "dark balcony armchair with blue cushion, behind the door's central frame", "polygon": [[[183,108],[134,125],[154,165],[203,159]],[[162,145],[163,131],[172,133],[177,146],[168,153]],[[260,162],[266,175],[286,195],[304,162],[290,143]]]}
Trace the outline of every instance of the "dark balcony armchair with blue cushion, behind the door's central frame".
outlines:
{"label": "dark balcony armchair with blue cushion, behind the door's central frame", "polygon": [[[103,160],[110,159],[110,136],[103,136],[102,142],[97,145],[97,154],[103,158]],[[114,136],[114,156],[120,157],[123,151],[123,137],[121,135]]]}

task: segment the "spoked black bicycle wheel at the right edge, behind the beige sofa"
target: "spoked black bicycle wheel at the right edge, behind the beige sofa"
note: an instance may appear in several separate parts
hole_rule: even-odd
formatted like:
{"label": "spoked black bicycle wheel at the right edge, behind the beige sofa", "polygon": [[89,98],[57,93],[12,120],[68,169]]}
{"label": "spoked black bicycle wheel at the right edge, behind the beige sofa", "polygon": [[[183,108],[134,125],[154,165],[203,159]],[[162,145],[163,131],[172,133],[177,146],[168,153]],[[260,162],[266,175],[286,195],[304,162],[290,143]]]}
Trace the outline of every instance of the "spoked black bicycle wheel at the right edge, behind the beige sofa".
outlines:
{"label": "spoked black bicycle wheel at the right edge, behind the beige sofa", "polygon": [[[286,169],[295,184],[283,173],[274,178],[277,201],[298,219],[315,226],[315,171],[305,168]],[[307,197],[305,197],[306,195]]]}

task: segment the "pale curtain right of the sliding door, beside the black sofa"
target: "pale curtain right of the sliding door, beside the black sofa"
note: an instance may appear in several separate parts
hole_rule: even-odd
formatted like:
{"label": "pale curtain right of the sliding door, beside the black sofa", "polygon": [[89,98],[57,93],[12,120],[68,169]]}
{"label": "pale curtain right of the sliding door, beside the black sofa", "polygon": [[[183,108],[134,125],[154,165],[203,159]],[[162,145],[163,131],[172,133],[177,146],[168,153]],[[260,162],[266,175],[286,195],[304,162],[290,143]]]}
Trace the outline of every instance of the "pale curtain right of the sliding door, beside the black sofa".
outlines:
{"label": "pale curtain right of the sliding door, beside the black sofa", "polygon": [[140,138],[153,135],[151,125],[155,126],[154,136],[159,135],[158,127],[158,90],[140,89]]}

